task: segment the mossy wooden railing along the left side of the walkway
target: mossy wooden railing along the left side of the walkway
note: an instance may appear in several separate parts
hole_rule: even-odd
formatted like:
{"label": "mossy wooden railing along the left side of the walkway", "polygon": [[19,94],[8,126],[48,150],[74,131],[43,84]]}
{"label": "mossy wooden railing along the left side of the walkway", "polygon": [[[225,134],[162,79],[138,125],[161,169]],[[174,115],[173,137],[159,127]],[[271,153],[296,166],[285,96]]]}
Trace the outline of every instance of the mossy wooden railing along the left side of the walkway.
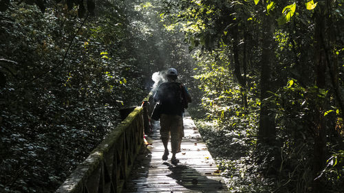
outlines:
{"label": "mossy wooden railing along the left side of the walkway", "polygon": [[[151,94],[70,174],[56,193],[121,192],[149,130]],[[147,126],[147,127],[145,127]]]}

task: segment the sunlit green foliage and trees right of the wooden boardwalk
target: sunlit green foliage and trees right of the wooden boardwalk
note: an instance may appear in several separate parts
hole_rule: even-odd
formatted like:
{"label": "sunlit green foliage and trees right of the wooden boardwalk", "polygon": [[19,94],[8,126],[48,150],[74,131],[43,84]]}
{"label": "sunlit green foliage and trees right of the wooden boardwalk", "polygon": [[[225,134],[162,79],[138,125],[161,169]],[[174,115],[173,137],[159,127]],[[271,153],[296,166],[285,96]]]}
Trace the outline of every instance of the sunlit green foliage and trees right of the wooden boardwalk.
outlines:
{"label": "sunlit green foliage and trees right of the wooden boardwalk", "polygon": [[[162,13],[162,17],[171,22],[166,27],[179,27],[184,32],[197,62],[194,78],[199,90],[192,92],[197,93],[197,101],[202,103],[197,110],[190,109],[191,115],[204,120],[197,126],[213,155],[218,157],[220,168],[226,171],[230,189],[233,192],[342,191],[343,175],[341,170],[331,167],[336,162],[330,153],[343,150],[340,110],[343,100],[336,96],[342,93],[336,89],[336,81],[343,87],[340,65],[343,57],[337,56],[341,55],[339,47],[343,47],[338,41],[343,38],[342,3],[206,0],[165,3],[169,11]],[[322,21],[315,19],[319,16]],[[271,23],[274,21],[279,25]],[[314,28],[317,25],[321,27]],[[267,36],[271,30],[272,36]],[[315,40],[317,34],[323,39]],[[266,38],[270,38],[270,44],[264,44]],[[323,42],[321,49],[327,54],[320,56],[316,52],[320,50],[317,42]],[[270,54],[266,55],[267,52]],[[269,89],[259,99],[265,81],[261,75],[267,71],[261,68],[267,61],[272,61],[266,76],[270,79]],[[327,66],[319,70],[316,62]],[[324,82],[321,88],[316,87],[319,82]],[[273,116],[276,124],[270,144],[257,141],[261,104],[268,104],[263,107],[270,114],[264,116]],[[243,135],[234,137],[242,145],[237,146],[231,140],[233,133],[241,132],[250,140],[241,138]],[[319,166],[326,168],[323,175],[315,169]]]}

